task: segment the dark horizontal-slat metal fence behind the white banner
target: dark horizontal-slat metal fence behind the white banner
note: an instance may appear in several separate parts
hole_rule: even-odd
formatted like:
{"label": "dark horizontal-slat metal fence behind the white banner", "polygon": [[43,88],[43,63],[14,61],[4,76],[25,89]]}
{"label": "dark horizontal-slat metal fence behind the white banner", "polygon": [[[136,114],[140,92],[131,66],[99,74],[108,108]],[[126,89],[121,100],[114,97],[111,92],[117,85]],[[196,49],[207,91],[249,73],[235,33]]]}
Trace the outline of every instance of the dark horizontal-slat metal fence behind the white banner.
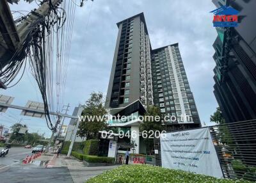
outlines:
{"label": "dark horizontal-slat metal fence behind the white banner", "polygon": [[[205,128],[210,129],[223,177],[255,181],[256,120],[214,125]],[[158,150],[156,165],[161,166],[159,138],[154,138],[154,147]]]}

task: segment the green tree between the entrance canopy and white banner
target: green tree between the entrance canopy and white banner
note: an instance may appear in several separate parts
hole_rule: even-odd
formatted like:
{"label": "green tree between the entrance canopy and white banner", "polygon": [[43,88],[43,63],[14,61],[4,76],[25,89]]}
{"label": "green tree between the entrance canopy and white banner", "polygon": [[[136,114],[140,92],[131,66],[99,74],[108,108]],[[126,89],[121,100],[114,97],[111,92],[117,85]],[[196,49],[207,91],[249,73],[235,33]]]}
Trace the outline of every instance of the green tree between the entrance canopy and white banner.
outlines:
{"label": "green tree between the entrance canopy and white banner", "polygon": [[159,107],[156,106],[148,106],[147,113],[144,115],[143,122],[140,124],[140,131],[147,132],[147,138],[143,138],[143,141],[147,147],[147,153],[151,155],[152,150],[154,150],[154,138],[148,138],[148,136],[152,133],[152,131],[163,131],[164,125],[162,120],[156,120],[156,116],[161,116],[161,111]]}

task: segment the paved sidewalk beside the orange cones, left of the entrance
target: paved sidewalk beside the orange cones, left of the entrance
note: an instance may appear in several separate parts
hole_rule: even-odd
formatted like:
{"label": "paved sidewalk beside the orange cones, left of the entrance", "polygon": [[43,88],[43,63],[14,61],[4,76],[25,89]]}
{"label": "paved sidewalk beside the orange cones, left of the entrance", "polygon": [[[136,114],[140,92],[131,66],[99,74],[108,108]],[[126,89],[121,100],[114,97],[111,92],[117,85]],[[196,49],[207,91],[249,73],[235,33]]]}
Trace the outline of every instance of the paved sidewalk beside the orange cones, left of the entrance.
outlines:
{"label": "paved sidewalk beside the orange cones, left of the entrance", "polygon": [[61,154],[59,157],[57,157],[56,154],[43,154],[41,157],[38,157],[36,161],[47,162],[45,168],[67,167],[74,183],[84,183],[86,180],[95,177],[106,170],[112,170],[118,167],[118,165],[85,167],[82,161]]}

